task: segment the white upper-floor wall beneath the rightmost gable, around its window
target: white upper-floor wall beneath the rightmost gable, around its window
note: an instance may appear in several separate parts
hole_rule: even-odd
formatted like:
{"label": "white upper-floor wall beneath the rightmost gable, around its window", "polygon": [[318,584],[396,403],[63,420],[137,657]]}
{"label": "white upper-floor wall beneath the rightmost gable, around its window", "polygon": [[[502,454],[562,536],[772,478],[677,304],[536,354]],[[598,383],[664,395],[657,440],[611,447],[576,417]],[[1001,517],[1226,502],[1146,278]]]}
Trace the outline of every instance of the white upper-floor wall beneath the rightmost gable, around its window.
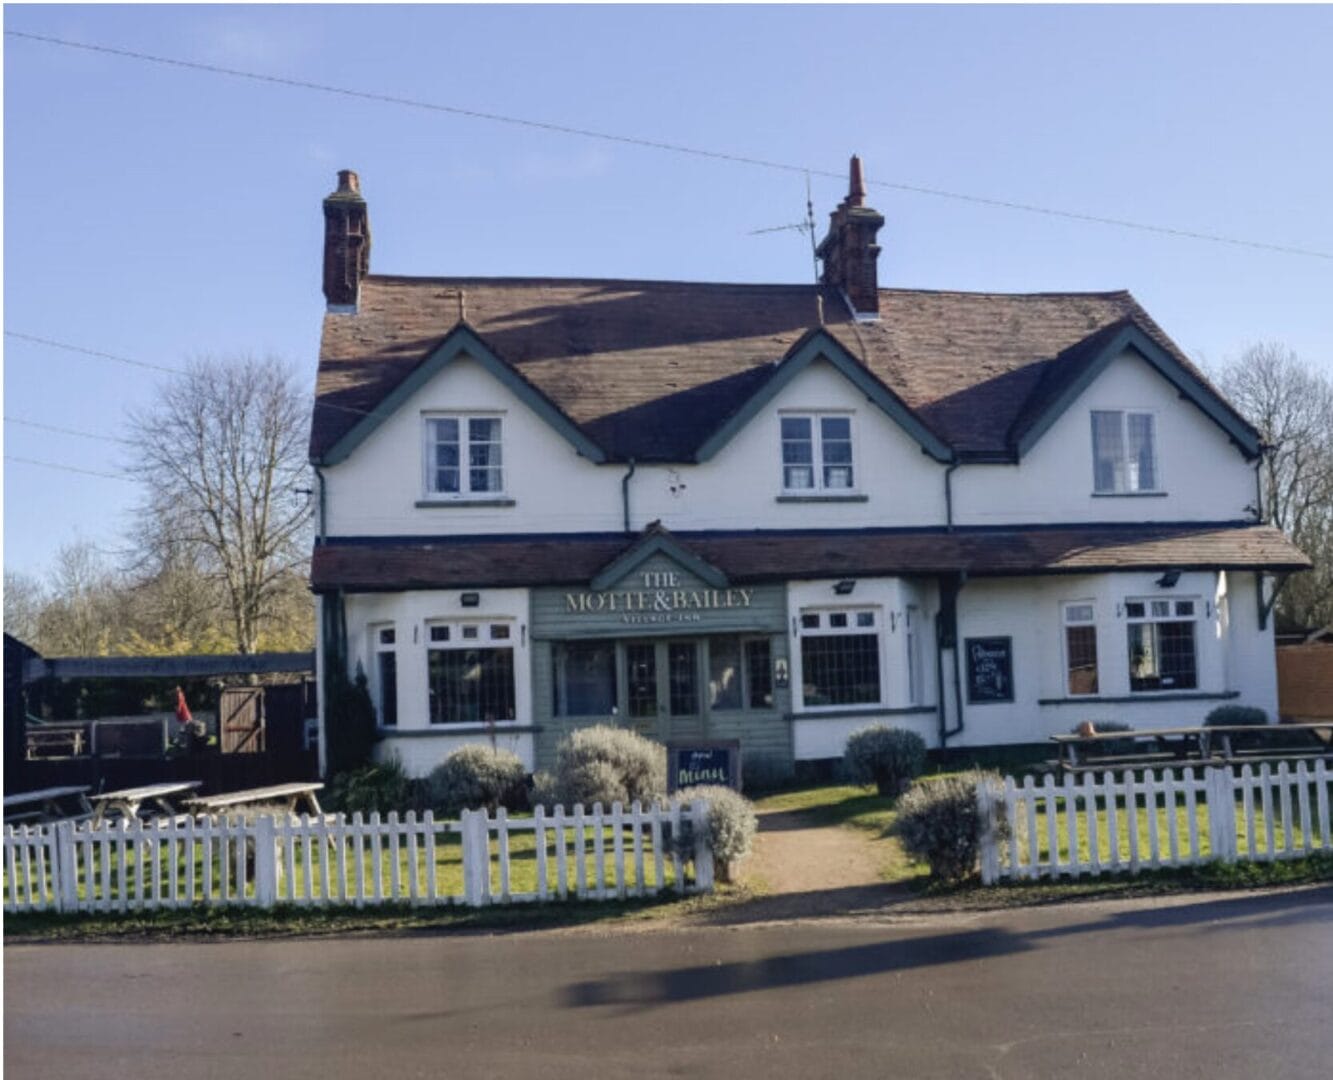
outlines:
{"label": "white upper-floor wall beneath the rightmost gable, around its window", "polygon": [[[1093,409],[1154,413],[1165,495],[1093,495]],[[964,465],[953,475],[960,525],[1236,521],[1250,517],[1254,499],[1253,463],[1136,353],[1108,365],[1018,465]]]}

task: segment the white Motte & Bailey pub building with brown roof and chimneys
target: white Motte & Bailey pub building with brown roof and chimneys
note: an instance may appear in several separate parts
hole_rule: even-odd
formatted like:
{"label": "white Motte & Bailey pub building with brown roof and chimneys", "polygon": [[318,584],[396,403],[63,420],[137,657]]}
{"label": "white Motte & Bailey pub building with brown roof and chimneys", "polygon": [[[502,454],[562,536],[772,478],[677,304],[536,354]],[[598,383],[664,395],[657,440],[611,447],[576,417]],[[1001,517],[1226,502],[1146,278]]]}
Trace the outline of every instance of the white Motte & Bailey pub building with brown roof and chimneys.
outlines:
{"label": "white Motte & Bailey pub building with brown roof and chimneys", "polygon": [[611,723],[772,775],[874,721],[1276,712],[1309,561],[1258,433],[1128,292],[881,288],[864,203],[853,159],[818,287],[396,277],[339,175],[312,584],[381,753]]}

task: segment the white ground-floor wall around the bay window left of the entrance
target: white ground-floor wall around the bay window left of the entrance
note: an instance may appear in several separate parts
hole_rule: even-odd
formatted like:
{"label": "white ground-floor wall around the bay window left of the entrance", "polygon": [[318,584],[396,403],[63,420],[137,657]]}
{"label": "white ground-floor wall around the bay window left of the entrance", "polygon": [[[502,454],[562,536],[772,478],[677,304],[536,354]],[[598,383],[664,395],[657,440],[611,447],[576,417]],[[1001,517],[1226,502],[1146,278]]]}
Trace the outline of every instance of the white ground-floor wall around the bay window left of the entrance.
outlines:
{"label": "white ground-floor wall around the bay window left of the entrance", "polygon": [[531,733],[507,733],[507,729],[532,724],[528,591],[480,589],[479,592],[481,603],[476,608],[464,608],[460,601],[461,593],[456,591],[357,593],[347,597],[348,669],[355,675],[357,664],[361,665],[376,700],[379,695],[375,681],[379,672],[375,663],[373,635],[381,627],[392,625],[395,629],[399,723],[381,744],[377,756],[397,752],[413,776],[425,775],[460,745],[468,743],[491,745],[489,732],[459,733],[453,725],[429,721],[428,627],[441,620],[511,625],[509,641],[515,653],[515,719],[499,721],[492,727],[497,745],[513,749],[529,769],[533,767]]}

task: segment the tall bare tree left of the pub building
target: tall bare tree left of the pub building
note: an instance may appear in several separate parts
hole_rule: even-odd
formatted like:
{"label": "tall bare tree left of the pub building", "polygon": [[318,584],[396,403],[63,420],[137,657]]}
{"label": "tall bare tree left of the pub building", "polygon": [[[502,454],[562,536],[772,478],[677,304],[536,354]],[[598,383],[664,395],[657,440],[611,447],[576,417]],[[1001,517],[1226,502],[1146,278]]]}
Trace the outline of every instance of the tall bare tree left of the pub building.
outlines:
{"label": "tall bare tree left of the pub building", "polygon": [[197,360],[129,416],[141,548],[159,569],[197,565],[217,581],[243,653],[309,553],[308,416],[292,372],[252,357]]}

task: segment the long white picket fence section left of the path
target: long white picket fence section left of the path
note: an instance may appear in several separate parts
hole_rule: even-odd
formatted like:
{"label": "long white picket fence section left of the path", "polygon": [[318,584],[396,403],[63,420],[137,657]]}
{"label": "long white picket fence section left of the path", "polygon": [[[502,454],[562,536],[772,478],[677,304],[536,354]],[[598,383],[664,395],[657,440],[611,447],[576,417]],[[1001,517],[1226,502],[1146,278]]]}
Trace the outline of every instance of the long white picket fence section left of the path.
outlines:
{"label": "long white picket fence section left of the path", "polygon": [[[356,907],[709,892],[708,804],[7,825],[5,912]],[[528,884],[531,888],[517,888]]]}

